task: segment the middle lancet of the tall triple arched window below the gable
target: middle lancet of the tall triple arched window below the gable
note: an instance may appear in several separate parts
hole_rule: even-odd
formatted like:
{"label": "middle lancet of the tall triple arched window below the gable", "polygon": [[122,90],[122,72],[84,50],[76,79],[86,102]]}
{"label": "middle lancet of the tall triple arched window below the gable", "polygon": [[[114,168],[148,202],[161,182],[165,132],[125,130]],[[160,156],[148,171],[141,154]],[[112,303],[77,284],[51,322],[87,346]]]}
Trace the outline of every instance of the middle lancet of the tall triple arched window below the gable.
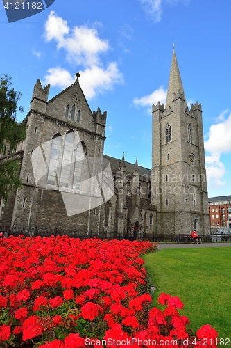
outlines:
{"label": "middle lancet of the tall triple arched window below the gable", "polygon": [[74,135],[73,132],[67,133],[65,136],[65,145],[62,155],[62,168],[60,175],[60,186],[69,187],[71,176],[71,161],[74,150]]}

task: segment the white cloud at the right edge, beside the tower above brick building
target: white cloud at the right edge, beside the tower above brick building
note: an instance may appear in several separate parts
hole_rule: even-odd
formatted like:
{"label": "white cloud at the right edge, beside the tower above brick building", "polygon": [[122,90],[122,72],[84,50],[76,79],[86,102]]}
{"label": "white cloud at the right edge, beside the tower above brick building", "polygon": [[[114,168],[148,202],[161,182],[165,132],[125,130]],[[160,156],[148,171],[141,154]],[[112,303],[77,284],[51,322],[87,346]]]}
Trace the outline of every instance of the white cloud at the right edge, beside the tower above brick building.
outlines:
{"label": "white cloud at the right edge, beside the tower above brick building", "polygon": [[223,120],[209,129],[209,139],[205,141],[205,151],[210,155],[205,156],[207,182],[209,189],[219,189],[225,182],[222,177],[225,174],[225,165],[221,162],[221,154],[231,152],[231,113],[225,119],[228,110],[223,111],[218,116],[218,120]]}

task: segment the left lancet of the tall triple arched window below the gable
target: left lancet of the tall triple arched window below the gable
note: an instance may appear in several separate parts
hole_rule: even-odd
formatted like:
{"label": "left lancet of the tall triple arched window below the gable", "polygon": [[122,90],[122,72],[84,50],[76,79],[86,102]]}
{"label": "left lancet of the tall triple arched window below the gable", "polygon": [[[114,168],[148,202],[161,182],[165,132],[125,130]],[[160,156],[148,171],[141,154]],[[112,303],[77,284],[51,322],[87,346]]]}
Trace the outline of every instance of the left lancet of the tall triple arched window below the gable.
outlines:
{"label": "left lancet of the tall triple arched window below the gable", "polygon": [[60,157],[60,134],[55,134],[51,142],[51,157],[48,168],[47,184],[55,185],[58,184],[58,160]]}

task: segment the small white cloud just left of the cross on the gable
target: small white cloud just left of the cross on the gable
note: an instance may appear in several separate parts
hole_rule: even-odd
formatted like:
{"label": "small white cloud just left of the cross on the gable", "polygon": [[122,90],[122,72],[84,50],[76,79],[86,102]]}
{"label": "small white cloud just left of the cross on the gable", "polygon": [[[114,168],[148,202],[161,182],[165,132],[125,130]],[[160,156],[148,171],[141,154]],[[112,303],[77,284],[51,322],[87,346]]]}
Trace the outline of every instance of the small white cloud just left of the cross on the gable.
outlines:
{"label": "small white cloud just left of the cross on the gable", "polygon": [[45,75],[43,85],[50,84],[53,87],[67,88],[71,84],[74,84],[75,79],[71,77],[71,74],[60,67],[50,68],[47,70],[48,74]]}

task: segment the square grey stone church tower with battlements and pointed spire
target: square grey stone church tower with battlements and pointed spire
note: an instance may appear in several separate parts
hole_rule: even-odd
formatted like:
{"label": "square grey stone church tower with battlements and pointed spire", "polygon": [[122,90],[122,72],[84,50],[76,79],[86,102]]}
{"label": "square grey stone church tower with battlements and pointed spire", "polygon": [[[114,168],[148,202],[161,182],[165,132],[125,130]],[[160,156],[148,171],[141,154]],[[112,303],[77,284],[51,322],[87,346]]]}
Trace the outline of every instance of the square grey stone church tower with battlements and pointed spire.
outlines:
{"label": "square grey stone church tower with battlements and pointed spire", "polygon": [[153,105],[152,204],[157,233],[209,234],[201,104],[187,107],[173,49],[166,106]]}

